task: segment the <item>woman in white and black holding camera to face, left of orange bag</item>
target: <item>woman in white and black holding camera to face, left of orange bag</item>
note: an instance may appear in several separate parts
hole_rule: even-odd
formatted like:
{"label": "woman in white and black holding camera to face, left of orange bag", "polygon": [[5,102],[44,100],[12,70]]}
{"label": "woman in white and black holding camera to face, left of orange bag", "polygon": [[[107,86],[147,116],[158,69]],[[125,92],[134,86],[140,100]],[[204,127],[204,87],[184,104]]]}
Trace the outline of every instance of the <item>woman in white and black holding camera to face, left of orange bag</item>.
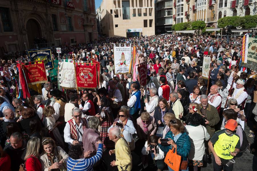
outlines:
{"label": "woman in white and black holding camera to face, left of orange bag", "polygon": [[[164,169],[164,152],[160,149],[158,145],[158,136],[151,135],[145,142],[144,147],[141,150],[142,164],[148,164],[149,168],[154,168],[157,166],[157,171]],[[147,157],[145,157],[147,156]]]}

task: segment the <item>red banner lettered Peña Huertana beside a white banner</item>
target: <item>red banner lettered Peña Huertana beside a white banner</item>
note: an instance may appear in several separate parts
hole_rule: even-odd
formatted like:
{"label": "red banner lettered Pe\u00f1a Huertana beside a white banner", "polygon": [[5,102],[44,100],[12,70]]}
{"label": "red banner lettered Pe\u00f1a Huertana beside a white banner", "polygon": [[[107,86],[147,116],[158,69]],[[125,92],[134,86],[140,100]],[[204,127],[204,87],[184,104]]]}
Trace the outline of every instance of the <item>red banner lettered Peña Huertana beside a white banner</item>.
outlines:
{"label": "red banner lettered Pe\u00f1a Huertana beside a white banner", "polygon": [[96,64],[76,63],[77,86],[79,88],[97,88]]}

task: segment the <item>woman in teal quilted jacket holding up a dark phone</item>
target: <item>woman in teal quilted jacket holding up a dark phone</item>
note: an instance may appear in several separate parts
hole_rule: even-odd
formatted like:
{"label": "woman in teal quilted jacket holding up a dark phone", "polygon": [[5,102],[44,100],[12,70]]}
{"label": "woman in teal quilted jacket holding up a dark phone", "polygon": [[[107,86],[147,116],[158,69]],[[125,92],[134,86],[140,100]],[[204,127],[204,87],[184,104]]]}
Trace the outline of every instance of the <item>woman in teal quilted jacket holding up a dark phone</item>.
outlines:
{"label": "woman in teal quilted jacket holding up a dark phone", "polygon": [[[191,143],[189,136],[185,133],[185,128],[182,122],[178,119],[172,119],[169,122],[170,131],[166,134],[165,139],[168,139],[169,146],[162,146],[160,139],[158,139],[158,144],[163,152],[168,152],[172,148],[176,148],[177,154],[181,156],[181,161],[187,162],[188,154],[190,152]],[[172,158],[169,158],[172,162]],[[168,167],[169,171],[173,171]],[[180,168],[181,171],[188,170],[188,166],[185,168]]]}

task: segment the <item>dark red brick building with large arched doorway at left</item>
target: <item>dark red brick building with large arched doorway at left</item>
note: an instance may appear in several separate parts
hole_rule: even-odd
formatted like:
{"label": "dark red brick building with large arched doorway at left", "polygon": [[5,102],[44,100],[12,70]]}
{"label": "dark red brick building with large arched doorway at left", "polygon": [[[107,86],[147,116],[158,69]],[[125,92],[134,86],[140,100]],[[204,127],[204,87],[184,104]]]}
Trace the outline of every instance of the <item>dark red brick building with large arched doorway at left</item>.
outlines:
{"label": "dark red brick building with large arched doorway at left", "polygon": [[94,0],[2,0],[0,13],[0,54],[98,38]]}

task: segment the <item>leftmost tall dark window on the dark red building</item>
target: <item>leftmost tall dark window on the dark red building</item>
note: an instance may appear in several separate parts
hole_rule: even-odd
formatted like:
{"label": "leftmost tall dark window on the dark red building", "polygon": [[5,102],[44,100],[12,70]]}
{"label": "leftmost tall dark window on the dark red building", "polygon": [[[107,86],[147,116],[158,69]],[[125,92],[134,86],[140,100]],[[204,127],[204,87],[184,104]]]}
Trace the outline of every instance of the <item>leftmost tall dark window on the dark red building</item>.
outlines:
{"label": "leftmost tall dark window on the dark red building", "polygon": [[9,8],[0,7],[0,13],[1,13],[4,32],[12,32],[13,26],[12,26]]}

